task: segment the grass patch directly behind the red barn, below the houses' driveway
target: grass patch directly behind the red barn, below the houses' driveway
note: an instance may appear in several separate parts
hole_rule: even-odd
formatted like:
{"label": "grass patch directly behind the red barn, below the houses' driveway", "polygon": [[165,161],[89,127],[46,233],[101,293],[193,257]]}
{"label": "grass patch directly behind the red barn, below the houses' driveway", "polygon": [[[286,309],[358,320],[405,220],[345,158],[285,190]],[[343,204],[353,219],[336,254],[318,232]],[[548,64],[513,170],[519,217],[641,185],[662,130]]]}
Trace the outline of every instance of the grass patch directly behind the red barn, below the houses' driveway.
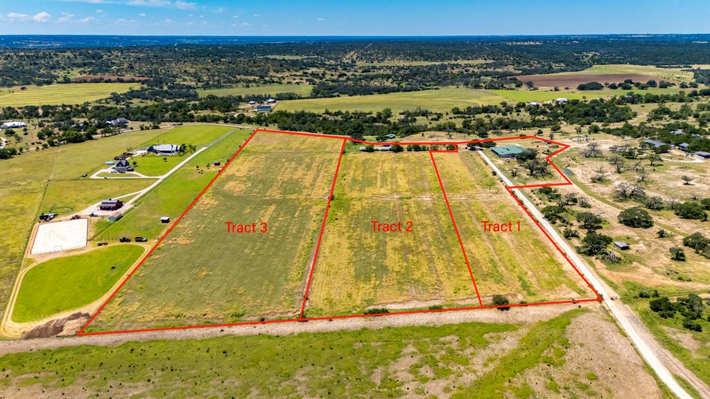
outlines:
{"label": "grass patch directly behind the red barn, below the houses' driveway", "polygon": [[79,212],[107,198],[143,190],[154,180],[52,180],[47,185],[40,212],[61,215]]}

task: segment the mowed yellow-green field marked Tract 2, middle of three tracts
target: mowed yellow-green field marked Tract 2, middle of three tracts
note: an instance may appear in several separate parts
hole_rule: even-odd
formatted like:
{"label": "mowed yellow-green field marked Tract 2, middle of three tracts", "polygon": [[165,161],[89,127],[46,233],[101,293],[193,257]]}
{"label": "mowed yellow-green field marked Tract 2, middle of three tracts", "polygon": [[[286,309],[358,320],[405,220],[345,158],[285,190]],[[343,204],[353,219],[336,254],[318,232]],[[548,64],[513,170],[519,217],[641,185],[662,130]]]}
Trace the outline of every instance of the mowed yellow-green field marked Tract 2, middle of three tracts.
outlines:
{"label": "mowed yellow-green field marked Tract 2, middle of three tracts", "polygon": [[[376,232],[373,220],[412,222],[412,231]],[[314,275],[309,316],[479,305],[423,151],[344,155]]]}

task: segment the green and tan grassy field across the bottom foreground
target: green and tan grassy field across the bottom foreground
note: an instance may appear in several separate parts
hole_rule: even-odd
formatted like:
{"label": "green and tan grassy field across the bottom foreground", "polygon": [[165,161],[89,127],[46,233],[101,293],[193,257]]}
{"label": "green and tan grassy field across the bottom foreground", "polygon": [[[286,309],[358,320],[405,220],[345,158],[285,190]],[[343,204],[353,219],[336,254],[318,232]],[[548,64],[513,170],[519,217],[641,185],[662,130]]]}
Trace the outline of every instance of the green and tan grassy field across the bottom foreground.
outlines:
{"label": "green and tan grassy field across the bottom foreground", "polygon": [[599,311],[522,324],[84,345],[8,354],[0,368],[0,387],[27,398],[672,397]]}

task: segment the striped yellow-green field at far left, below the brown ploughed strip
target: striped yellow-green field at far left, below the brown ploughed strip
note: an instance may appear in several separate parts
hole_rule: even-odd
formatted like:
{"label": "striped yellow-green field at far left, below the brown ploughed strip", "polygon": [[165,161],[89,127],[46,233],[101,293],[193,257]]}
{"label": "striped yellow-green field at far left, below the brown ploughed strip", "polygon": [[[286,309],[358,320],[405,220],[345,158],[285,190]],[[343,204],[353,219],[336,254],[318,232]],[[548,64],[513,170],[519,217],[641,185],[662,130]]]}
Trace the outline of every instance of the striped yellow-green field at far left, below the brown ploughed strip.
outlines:
{"label": "striped yellow-green field at far left, below the brown ploughed strip", "polygon": [[0,106],[82,104],[128,92],[138,83],[67,83],[0,90]]}

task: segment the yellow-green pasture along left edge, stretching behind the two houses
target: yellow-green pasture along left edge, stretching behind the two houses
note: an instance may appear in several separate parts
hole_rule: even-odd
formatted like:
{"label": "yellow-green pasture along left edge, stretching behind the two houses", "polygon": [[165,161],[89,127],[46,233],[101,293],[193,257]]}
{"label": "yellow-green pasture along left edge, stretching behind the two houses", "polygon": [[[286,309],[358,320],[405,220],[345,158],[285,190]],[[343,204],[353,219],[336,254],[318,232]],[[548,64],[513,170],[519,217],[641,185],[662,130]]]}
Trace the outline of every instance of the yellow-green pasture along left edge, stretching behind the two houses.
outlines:
{"label": "yellow-green pasture along left edge, stretching behind the two houses", "polygon": [[[3,250],[0,251],[0,302],[7,300],[6,295],[10,292],[15,273],[22,264],[35,217],[40,212],[40,204],[43,203],[50,180],[76,179],[96,168],[97,164],[106,159],[107,153],[122,151],[128,146],[135,147],[158,133],[160,131],[133,131],[96,141],[48,148],[1,161],[0,230],[3,234],[0,235],[0,246]],[[91,198],[89,192],[95,186],[82,187],[87,191],[73,192],[75,199],[65,203],[80,206],[84,200],[77,198]],[[84,189],[76,187],[73,190]],[[58,203],[62,202],[64,200]]]}

